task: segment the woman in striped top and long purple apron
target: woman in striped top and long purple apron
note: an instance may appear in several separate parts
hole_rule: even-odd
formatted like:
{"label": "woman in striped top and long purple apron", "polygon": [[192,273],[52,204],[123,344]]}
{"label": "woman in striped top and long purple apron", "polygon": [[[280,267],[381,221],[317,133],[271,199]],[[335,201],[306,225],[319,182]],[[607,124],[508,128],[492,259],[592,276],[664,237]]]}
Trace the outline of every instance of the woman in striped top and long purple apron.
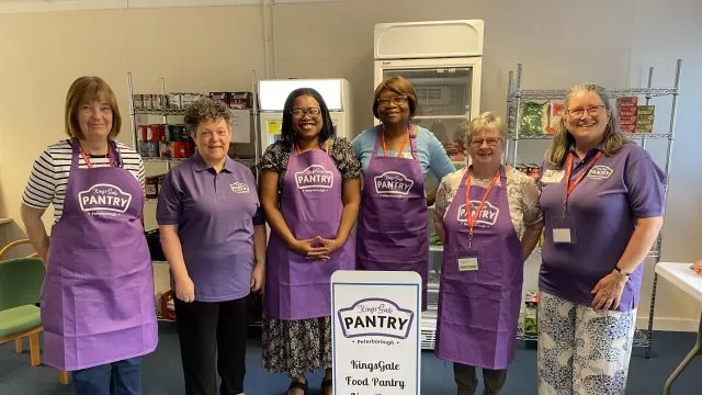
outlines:
{"label": "woman in striped top and long purple apron", "polygon": [[[46,262],[44,359],[71,371],[80,395],[140,394],[139,357],[157,343],[154,269],[140,221],[144,165],[114,142],[120,126],[112,89],[98,77],[77,79],[66,100],[70,139],[35,161],[23,196],[27,236]],[[49,238],[42,215],[52,203]]]}

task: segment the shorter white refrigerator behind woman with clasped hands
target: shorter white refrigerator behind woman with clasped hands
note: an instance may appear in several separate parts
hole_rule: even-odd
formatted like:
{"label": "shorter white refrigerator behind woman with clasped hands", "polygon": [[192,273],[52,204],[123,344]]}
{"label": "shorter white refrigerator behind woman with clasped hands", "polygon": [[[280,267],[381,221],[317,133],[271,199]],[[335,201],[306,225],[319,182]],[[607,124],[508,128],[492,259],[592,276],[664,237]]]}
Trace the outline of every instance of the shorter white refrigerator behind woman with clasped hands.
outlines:
{"label": "shorter white refrigerator behind woman with clasped hands", "polygon": [[261,80],[258,83],[261,153],[281,139],[283,105],[290,92],[297,88],[313,88],[321,94],[329,108],[337,136],[349,139],[355,136],[351,125],[349,81],[340,78]]}

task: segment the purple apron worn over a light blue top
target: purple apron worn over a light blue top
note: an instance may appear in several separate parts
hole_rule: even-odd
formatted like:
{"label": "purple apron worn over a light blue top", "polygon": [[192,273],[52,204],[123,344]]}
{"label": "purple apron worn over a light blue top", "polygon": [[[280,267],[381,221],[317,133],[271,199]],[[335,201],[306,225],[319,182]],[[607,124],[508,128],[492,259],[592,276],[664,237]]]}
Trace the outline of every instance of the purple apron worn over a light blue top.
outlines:
{"label": "purple apron worn over a light blue top", "polygon": [[418,272],[422,279],[422,309],[427,309],[429,219],[416,133],[409,138],[411,159],[378,157],[381,134],[378,128],[363,174],[356,241],[359,270]]}

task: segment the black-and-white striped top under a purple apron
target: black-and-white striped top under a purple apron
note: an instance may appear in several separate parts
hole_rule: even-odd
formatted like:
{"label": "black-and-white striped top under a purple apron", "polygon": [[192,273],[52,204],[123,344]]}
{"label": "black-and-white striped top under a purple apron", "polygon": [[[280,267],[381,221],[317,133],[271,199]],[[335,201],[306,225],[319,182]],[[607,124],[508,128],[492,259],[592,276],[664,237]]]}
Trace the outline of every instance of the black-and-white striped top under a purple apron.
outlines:
{"label": "black-and-white striped top under a purple apron", "polygon": [[[124,169],[129,171],[141,184],[144,190],[144,161],[133,148],[117,143],[117,150],[122,157]],[[30,207],[44,210],[54,204],[54,223],[60,219],[66,200],[66,187],[70,172],[72,146],[70,140],[58,142],[48,148],[34,161],[30,181],[24,189],[22,202]],[[110,166],[110,159],[104,156],[90,156],[93,168]],[[82,156],[78,156],[78,168],[87,169]]]}

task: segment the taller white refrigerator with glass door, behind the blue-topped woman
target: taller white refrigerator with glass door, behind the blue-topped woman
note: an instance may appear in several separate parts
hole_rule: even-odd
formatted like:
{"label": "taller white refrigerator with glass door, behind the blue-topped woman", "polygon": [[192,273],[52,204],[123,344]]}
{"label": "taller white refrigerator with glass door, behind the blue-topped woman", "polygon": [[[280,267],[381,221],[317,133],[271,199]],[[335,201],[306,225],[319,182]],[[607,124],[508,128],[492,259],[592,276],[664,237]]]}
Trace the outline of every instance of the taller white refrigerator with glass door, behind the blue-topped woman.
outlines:
{"label": "taller white refrigerator with glass door, behind the blue-topped woman", "polygon": [[[374,31],[375,86],[390,76],[411,82],[419,102],[412,123],[439,138],[456,168],[466,163],[467,124],[480,112],[483,35],[482,20],[381,23]],[[427,190],[438,182],[427,180]],[[433,233],[433,213],[429,214]],[[423,349],[434,348],[442,251],[442,246],[431,244],[429,309],[421,315]]]}

